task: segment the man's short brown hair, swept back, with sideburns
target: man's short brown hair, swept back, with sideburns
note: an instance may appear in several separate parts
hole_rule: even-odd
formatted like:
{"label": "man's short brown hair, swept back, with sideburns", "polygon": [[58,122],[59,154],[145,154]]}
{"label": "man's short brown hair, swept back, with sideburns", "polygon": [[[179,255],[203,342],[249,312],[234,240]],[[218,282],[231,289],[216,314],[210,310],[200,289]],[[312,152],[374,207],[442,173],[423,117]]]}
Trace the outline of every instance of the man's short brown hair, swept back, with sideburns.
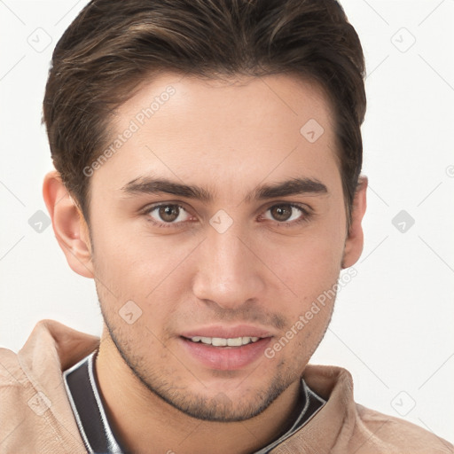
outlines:
{"label": "man's short brown hair, swept back, with sideburns", "polygon": [[363,145],[364,54],[335,0],[92,0],[57,43],[43,100],[55,168],[89,222],[83,168],[115,109],[166,70],[207,78],[297,74],[333,106],[350,219]]}

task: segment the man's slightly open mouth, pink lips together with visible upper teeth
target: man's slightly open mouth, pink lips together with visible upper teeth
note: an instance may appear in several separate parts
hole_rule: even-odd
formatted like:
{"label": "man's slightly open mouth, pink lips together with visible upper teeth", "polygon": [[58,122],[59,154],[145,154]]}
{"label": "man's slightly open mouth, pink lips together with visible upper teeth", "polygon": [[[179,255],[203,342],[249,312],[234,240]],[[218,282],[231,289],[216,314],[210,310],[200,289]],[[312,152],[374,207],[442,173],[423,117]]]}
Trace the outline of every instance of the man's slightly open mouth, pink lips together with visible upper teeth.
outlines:
{"label": "man's slightly open mouth, pink lips together with visible upper teeth", "polygon": [[203,331],[205,333],[184,333],[179,338],[181,345],[196,364],[217,371],[238,371],[251,367],[264,357],[264,350],[273,337],[257,329],[200,330]]}

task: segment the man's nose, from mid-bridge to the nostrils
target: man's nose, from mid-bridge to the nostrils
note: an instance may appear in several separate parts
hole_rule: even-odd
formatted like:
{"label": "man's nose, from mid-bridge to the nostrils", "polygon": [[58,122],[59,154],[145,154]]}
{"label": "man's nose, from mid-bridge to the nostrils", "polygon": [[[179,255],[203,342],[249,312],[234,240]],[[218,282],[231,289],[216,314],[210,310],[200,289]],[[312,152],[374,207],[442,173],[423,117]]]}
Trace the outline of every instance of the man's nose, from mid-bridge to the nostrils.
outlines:
{"label": "man's nose, from mid-bridge to the nostrils", "polygon": [[265,267],[254,254],[256,247],[256,242],[233,226],[223,233],[209,227],[196,258],[194,295],[223,309],[261,299]]}

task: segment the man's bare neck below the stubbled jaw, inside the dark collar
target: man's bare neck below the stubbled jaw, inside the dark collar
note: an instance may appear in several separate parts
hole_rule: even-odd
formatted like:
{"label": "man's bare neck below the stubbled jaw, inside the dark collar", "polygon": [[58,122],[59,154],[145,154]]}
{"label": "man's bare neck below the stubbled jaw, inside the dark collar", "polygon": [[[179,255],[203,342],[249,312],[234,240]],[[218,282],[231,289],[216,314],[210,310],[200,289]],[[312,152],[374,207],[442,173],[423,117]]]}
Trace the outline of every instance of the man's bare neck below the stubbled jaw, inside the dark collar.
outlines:
{"label": "man's bare neck below the stubbled jaw, inside the dark collar", "polygon": [[298,412],[300,380],[294,381],[265,411],[252,419],[229,423],[194,419],[145,387],[124,362],[106,331],[95,370],[107,418],[127,452],[254,452],[284,434]]}

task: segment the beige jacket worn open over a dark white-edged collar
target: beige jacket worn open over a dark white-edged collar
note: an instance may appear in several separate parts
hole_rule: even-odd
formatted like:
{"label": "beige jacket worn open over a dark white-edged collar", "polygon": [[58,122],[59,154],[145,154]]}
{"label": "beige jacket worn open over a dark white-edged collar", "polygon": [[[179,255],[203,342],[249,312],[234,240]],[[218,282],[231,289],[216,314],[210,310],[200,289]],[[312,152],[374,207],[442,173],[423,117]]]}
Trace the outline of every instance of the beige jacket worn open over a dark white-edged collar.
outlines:
{"label": "beige jacket worn open over a dark white-edged collar", "polygon": [[[97,337],[43,320],[18,354],[0,348],[0,453],[86,452],[62,371],[98,345]],[[345,369],[308,365],[303,377],[327,403],[273,454],[454,453],[427,430],[355,403]]]}

